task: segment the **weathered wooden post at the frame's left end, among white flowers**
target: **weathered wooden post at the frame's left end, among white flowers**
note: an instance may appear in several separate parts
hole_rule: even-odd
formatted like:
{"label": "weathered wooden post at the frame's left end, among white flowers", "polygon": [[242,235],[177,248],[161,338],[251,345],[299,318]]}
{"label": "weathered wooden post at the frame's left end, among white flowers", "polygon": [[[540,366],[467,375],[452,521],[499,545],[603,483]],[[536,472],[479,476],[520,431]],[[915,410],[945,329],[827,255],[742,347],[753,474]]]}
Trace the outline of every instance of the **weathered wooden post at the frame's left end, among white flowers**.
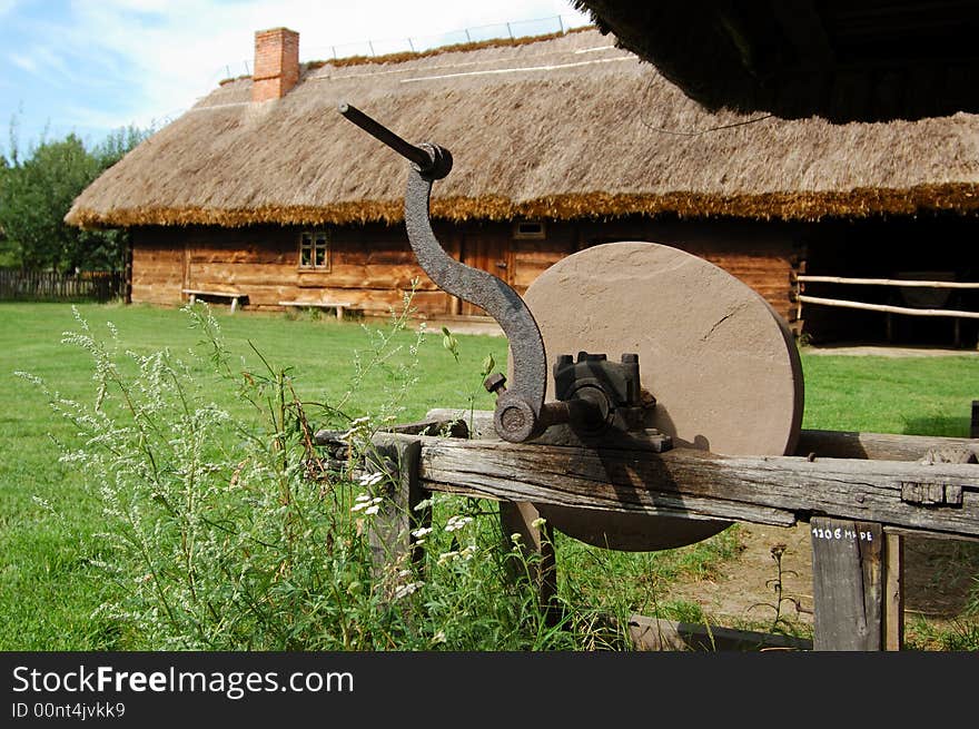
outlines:
{"label": "weathered wooden post at the frame's left end, among white flowers", "polygon": [[431,508],[416,509],[428,496],[418,482],[421,457],[421,441],[395,435],[375,436],[374,451],[366,456],[367,472],[389,475],[378,484],[386,498],[370,521],[370,550],[378,572],[402,570],[424,555],[412,534],[432,523]]}

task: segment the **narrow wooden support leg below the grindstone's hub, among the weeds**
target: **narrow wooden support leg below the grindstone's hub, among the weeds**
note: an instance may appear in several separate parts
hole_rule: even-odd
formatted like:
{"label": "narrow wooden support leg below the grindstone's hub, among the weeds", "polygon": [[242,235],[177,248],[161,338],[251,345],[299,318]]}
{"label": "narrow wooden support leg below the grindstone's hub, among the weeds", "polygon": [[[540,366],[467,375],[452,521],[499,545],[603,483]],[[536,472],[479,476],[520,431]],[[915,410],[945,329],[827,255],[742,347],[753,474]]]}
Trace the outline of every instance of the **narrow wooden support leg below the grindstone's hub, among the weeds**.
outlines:
{"label": "narrow wooden support leg below the grindstone's hub, among the weeds", "polygon": [[[534,504],[521,501],[500,502],[500,526],[503,531],[503,545],[508,552],[513,548],[513,535],[520,534],[523,563],[512,563],[514,579],[530,578],[541,595],[541,605],[546,612],[548,625],[561,619],[557,608],[557,563],[554,554],[554,529],[544,524],[542,530],[534,522],[540,516]],[[533,572],[527,574],[525,565]]]}

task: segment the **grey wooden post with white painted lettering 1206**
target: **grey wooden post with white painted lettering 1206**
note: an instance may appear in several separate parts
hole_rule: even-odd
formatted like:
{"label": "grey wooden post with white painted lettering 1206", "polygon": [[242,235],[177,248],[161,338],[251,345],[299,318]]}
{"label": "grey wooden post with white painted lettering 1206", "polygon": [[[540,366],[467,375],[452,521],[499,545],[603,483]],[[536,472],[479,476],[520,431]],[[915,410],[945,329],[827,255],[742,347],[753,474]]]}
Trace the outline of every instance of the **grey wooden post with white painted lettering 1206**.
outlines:
{"label": "grey wooden post with white painted lettering 1206", "polygon": [[883,647],[883,529],[877,523],[814,516],[813,649],[876,651]]}

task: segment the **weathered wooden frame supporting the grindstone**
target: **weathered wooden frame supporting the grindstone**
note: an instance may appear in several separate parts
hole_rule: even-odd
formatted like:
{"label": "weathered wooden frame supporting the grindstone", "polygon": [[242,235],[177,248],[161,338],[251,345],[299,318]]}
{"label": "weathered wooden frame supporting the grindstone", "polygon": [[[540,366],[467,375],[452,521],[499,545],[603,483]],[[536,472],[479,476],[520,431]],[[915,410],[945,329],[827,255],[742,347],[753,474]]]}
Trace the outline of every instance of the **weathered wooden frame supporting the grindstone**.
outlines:
{"label": "weathered wooden frame supporting the grindstone", "polygon": [[[412,444],[412,460],[403,467],[413,470],[413,485],[394,498],[409,513],[432,491],[504,502],[504,531],[526,534],[527,549],[543,558],[536,579],[545,607],[556,567],[544,551],[550,540],[533,521],[535,503],[779,526],[810,523],[815,650],[899,650],[902,535],[979,540],[979,443],[969,439],[803,431],[797,453],[787,456],[599,452],[501,441],[490,436],[492,415],[467,415],[475,440],[418,435],[425,428],[413,424],[378,435],[377,445]],[[458,420],[454,411],[434,410],[422,425],[442,432]],[[330,437],[317,434],[320,443]],[[936,459],[937,447],[962,457]],[[405,475],[392,482],[405,483]],[[406,549],[413,548],[403,543],[400,551]]]}

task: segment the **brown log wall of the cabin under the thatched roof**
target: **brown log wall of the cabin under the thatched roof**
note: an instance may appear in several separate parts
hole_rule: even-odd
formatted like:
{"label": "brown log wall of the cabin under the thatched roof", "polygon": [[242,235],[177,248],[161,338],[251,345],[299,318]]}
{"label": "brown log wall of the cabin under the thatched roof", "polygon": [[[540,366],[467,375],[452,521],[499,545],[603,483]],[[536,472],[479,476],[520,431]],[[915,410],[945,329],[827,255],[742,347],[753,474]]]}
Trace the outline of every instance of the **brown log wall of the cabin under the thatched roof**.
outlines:
{"label": "brown log wall of the cabin under the thatched roof", "polygon": [[[326,230],[322,265],[300,266],[303,231]],[[523,294],[547,267],[582,248],[614,240],[673,245],[725,268],[791,321],[790,277],[798,263],[794,228],[758,221],[651,220],[436,223],[446,249]],[[403,225],[147,227],[134,231],[132,301],[178,305],[184,288],[239,292],[249,308],[283,301],[348,302],[367,314],[402,305],[412,280],[414,306],[428,317],[484,315],[438,289],[422,270]]]}

